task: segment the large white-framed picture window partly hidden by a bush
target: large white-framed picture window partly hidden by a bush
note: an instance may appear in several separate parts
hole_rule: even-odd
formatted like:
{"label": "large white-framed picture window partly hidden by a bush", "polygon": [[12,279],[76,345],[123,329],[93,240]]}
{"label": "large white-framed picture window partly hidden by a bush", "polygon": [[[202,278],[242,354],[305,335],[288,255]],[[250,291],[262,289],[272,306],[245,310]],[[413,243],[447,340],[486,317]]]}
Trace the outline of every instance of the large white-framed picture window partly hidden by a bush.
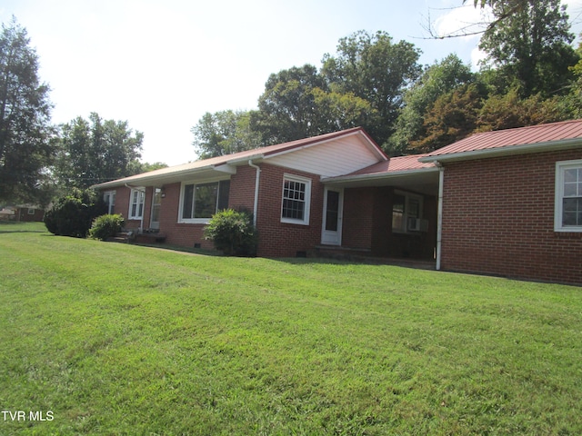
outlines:
{"label": "large white-framed picture window partly hidden by a bush", "polygon": [[207,223],[212,215],[228,207],[230,181],[183,183],[180,223]]}

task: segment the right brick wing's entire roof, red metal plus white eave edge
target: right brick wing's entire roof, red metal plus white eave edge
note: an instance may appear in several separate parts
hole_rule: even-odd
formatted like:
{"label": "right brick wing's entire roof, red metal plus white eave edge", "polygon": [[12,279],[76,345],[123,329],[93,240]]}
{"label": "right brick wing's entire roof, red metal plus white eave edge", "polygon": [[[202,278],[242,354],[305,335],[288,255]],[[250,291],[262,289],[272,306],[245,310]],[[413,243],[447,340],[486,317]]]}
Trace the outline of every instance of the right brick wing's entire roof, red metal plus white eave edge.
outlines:
{"label": "right brick wing's entire roof, red metal plus white eave edge", "polygon": [[538,124],[472,134],[420,157],[420,162],[447,162],[499,155],[540,153],[582,145],[582,120]]}

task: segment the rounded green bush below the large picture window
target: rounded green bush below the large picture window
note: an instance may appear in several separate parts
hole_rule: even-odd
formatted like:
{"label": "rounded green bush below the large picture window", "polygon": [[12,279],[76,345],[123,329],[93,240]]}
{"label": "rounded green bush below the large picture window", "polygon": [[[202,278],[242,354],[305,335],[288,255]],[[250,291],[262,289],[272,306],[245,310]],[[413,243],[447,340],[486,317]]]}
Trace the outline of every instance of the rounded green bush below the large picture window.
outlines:
{"label": "rounded green bush below the large picture window", "polygon": [[206,239],[227,256],[256,256],[258,233],[253,214],[226,209],[212,216],[204,229]]}

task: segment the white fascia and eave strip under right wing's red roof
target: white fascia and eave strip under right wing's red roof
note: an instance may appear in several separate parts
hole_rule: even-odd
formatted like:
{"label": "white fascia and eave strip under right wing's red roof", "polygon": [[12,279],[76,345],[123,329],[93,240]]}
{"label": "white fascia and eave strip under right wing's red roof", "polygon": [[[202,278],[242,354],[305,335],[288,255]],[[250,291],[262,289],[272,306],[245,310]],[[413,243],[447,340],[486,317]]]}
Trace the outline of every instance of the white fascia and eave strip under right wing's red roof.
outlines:
{"label": "white fascia and eave strip under right wing's red roof", "polygon": [[576,146],[582,146],[580,138],[551,141],[547,143],[507,145],[506,147],[487,148],[486,150],[474,150],[471,152],[439,154],[418,159],[418,162],[455,162],[475,159],[487,159],[488,157],[511,156],[515,154],[543,153],[558,150],[567,150]]}

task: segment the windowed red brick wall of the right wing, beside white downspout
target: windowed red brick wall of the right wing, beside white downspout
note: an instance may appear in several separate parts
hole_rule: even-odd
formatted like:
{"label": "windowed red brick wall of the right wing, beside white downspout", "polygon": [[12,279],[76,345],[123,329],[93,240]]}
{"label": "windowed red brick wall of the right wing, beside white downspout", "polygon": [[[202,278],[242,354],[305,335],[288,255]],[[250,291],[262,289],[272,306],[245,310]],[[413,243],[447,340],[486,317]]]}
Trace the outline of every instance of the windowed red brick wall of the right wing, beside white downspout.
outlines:
{"label": "windowed red brick wall of the right wing, beside white downspout", "polygon": [[441,267],[582,283],[582,233],[554,232],[556,162],[580,151],[447,163]]}

